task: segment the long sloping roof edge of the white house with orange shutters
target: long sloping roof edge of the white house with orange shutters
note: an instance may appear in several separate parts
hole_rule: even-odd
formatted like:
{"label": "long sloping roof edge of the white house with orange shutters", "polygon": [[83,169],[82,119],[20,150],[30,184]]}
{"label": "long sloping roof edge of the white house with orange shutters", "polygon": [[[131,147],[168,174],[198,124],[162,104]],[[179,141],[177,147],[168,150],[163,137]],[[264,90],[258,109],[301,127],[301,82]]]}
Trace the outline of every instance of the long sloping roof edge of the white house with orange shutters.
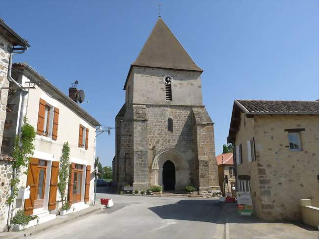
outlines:
{"label": "long sloping roof edge of the white house with orange shutters", "polygon": [[62,91],[56,88],[49,80],[41,76],[27,63],[14,63],[12,64],[14,70],[18,70],[29,79],[36,79],[36,84],[46,92],[50,93],[55,99],[71,109],[74,113],[79,115],[82,119],[86,120],[93,126],[100,126],[101,124],[86,112],[81,106],[75,103],[70,97],[65,95]]}

